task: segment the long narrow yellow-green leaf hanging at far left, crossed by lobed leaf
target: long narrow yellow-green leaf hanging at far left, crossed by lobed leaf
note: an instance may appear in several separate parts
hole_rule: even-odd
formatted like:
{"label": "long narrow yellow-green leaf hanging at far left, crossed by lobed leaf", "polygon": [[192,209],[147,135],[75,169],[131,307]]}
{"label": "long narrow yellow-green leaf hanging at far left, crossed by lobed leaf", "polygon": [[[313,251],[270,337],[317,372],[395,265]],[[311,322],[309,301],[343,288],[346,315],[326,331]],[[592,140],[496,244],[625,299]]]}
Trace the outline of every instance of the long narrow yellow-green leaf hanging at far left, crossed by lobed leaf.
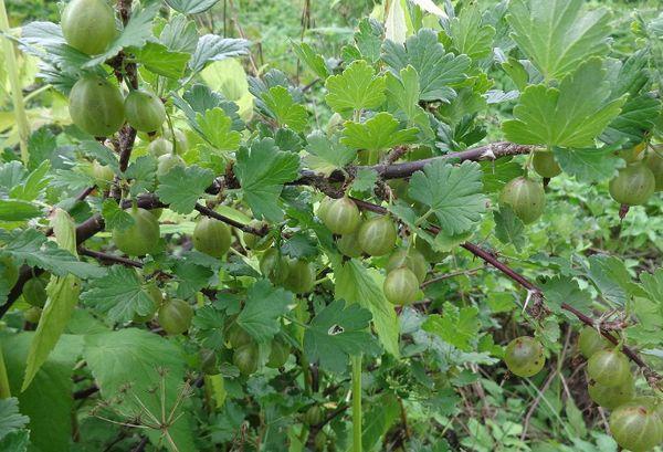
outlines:
{"label": "long narrow yellow-green leaf hanging at far left, crossed by lobed leaf", "polygon": [[[51,225],[57,245],[76,256],[76,224],[69,213],[62,209],[56,209]],[[72,274],[65,276],[53,275],[46,286],[46,294],[49,296],[46,305],[30,344],[25,378],[21,391],[30,386],[41,366],[46,361],[49,354],[55,348],[78,303],[81,280]]]}

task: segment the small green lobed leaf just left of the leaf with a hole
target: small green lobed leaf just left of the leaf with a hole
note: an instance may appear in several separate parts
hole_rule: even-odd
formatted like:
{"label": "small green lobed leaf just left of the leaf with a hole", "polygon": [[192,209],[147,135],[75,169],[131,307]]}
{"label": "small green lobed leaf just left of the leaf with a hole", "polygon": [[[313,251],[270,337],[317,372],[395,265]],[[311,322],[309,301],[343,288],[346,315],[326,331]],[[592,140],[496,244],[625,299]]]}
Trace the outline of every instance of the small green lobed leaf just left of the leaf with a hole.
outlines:
{"label": "small green lobed leaf just left of the leaf with a hole", "polygon": [[280,317],[294,303],[293,294],[260,280],[246,293],[246,303],[236,323],[256,341],[267,343],[281,329]]}

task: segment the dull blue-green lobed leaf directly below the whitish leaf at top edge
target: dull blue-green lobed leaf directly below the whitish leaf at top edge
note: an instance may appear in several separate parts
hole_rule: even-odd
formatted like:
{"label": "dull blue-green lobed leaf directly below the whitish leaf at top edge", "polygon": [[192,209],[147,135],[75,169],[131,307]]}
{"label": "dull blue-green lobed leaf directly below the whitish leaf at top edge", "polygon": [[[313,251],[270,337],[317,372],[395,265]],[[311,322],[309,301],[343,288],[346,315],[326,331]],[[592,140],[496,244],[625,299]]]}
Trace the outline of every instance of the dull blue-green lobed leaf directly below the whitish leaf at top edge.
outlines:
{"label": "dull blue-green lobed leaf directly below the whitish leaf at top edge", "polygon": [[419,74],[421,101],[450,102],[455,97],[453,86],[466,78],[471,60],[467,55],[446,53],[434,31],[422,29],[408,38],[406,44],[385,43],[385,62],[396,72],[408,65]]}

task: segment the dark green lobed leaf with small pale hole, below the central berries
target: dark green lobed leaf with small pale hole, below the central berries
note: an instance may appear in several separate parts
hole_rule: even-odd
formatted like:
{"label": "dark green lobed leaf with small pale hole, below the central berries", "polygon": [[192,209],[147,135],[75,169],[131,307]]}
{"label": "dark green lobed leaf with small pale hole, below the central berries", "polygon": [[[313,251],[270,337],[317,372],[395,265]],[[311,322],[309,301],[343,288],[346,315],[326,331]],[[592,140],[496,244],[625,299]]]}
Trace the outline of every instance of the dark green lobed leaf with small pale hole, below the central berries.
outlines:
{"label": "dark green lobed leaf with small pale hole, below the central berries", "polygon": [[376,339],[366,329],[370,311],[359,304],[345,304],[336,299],[311,320],[304,333],[304,355],[308,362],[317,362],[320,369],[344,372],[350,356],[379,353]]}

